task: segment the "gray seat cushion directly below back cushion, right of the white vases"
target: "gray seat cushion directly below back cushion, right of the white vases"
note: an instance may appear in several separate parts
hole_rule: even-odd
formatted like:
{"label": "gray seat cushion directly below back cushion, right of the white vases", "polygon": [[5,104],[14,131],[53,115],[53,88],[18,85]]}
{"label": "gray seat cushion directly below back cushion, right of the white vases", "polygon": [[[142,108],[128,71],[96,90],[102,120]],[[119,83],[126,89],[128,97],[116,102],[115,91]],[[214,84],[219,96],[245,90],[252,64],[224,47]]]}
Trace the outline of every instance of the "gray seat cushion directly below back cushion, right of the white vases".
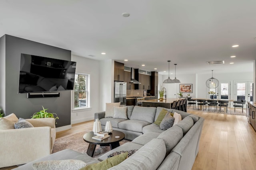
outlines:
{"label": "gray seat cushion directly below back cushion, right of the white vases", "polygon": [[128,131],[142,132],[142,128],[150,123],[141,120],[126,120],[118,123],[119,129],[125,129]]}

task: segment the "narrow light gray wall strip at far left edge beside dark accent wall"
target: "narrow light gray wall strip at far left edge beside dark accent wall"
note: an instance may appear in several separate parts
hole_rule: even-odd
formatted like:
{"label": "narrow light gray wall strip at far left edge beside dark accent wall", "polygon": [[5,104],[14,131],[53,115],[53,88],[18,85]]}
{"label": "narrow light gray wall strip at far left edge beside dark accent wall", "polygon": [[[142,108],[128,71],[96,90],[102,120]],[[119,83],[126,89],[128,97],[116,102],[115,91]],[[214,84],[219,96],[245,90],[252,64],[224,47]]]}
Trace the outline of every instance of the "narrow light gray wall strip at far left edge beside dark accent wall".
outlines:
{"label": "narrow light gray wall strip at far left edge beside dark accent wall", "polygon": [[0,38],[0,108],[5,113],[5,35]]}

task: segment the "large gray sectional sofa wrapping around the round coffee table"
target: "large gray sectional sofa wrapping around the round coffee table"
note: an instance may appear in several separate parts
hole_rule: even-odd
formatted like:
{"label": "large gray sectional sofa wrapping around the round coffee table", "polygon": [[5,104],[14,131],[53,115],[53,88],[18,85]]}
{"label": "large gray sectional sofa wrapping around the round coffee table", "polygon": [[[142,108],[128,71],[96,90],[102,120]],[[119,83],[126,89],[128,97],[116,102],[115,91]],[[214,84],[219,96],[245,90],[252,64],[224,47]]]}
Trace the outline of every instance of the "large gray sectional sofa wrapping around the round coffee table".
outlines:
{"label": "large gray sectional sofa wrapping around the round coffee table", "polygon": [[42,160],[78,159],[83,160],[86,164],[92,164],[105,160],[109,154],[116,151],[137,150],[132,156],[110,169],[191,170],[198,154],[204,118],[164,108],[169,112],[179,113],[182,116],[182,121],[166,131],[162,131],[158,125],[153,123],[162,109],[163,107],[130,106],[127,109],[128,119],[105,118],[104,112],[95,113],[95,118],[100,119],[102,128],[106,121],[111,121],[113,129],[122,131],[125,133],[126,139],[132,140],[110,150],[98,159],[66,149],[16,169],[33,170],[32,164]]}

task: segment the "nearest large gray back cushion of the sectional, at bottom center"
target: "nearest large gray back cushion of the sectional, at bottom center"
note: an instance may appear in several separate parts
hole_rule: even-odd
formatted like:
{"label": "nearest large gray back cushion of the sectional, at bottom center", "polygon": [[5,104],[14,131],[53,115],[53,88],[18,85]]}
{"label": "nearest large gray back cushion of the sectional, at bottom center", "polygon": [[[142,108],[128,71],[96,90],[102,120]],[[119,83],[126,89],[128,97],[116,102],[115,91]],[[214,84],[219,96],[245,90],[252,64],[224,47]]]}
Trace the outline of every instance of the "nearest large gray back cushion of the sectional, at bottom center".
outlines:
{"label": "nearest large gray back cushion of the sectional, at bottom center", "polygon": [[164,141],[152,139],[132,156],[110,170],[156,170],[164,160],[165,152]]}

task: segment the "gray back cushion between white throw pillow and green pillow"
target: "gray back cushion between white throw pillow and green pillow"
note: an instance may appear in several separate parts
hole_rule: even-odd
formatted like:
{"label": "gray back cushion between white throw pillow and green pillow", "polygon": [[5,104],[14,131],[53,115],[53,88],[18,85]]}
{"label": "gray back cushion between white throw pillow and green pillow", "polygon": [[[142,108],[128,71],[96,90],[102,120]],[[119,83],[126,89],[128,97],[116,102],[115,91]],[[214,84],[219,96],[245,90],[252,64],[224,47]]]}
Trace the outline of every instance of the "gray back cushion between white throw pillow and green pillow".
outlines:
{"label": "gray back cushion between white throw pillow and green pillow", "polygon": [[156,107],[134,106],[130,119],[142,120],[153,123],[156,115]]}

